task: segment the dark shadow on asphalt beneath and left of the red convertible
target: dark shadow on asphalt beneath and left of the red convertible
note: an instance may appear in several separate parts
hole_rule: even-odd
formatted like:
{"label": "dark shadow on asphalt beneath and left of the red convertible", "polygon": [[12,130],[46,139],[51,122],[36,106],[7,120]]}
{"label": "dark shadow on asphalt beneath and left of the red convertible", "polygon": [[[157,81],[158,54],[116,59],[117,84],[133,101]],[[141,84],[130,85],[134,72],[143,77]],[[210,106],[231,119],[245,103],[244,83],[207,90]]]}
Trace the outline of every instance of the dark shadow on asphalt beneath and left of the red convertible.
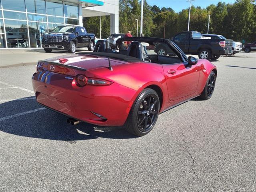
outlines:
{"label": "dark shadow on asphalt beneath and left of the red convertible", "polygon": [[[42,108],[35,99],[23,98],[0,104],[1,117]],[[67,124],[67,117],[49,109],[14,116],[0,121],[0,130],[24,137],[72,141],[96,138],[128,139],[136,136],[122,127],[104,127],[81,122],[76,126]]]}

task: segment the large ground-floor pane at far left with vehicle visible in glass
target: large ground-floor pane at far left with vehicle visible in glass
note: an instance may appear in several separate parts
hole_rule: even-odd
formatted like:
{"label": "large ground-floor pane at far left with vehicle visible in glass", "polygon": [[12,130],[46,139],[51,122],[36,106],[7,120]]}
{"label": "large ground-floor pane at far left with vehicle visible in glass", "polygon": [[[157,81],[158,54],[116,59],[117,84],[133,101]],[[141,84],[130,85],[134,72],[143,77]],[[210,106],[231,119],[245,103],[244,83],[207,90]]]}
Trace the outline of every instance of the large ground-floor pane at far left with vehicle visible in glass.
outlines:
{"label": "large ground-floor pane at far left with vehicle visible in glass", "polygon": [[28,47],[28,28],[26,21],[5,20],[8,48]]}

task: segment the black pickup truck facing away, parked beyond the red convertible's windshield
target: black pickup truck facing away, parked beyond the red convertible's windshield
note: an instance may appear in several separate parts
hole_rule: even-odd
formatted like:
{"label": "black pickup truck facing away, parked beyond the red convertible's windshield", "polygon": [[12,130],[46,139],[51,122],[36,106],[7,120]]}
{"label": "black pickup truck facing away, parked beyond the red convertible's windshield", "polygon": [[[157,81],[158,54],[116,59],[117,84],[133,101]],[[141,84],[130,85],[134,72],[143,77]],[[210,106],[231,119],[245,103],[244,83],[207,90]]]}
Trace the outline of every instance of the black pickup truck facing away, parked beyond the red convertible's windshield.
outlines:
{"label": "black pickup truck facing away, parked beyond the red convertible's windshield", "polygon": [[[220,55],[233,53],[233,40],[210,39],[202,37],[200,32],[196,31],[180,32],[171,40],[186,54],[198,55],[202,59],[216,60]],[[171,50],[161,44],[156,45],[154,50],[157,54],[172,54]]]}

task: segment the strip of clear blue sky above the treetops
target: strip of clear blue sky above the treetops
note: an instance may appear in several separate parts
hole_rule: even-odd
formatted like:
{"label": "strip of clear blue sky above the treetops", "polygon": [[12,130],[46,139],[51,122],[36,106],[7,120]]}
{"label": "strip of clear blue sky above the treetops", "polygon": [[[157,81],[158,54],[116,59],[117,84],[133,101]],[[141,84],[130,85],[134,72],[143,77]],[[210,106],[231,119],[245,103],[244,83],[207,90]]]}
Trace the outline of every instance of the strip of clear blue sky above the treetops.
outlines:
{"label": "strip of clear blue sky above the treetops", "polygon": [[[235,0],[195,0],[192,1],[192,5],[194,6],[201,6],[201,8],[206,8],[210,4],[218,4],[218,2],[225,2],[225,3],[234,3]],[[189,7],[189,2],[186,0],[147,0],[150,6],[157,5],[159,8],[162,7],[170,7],[175,12],[180,12],[182,9],[186,9]]]}

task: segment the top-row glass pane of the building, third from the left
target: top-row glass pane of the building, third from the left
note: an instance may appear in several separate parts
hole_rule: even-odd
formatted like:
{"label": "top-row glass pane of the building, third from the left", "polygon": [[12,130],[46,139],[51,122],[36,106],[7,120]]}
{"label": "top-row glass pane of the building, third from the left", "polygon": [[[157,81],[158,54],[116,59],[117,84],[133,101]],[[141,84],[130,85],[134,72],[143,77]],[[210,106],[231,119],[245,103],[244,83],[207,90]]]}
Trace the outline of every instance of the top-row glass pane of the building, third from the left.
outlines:
{"label": "top-row glass pane of the building, third from the left", "polygon": [[63,4],[59,0],[46,0],[46,8],[48,15],[64,16],[63,15]]}

